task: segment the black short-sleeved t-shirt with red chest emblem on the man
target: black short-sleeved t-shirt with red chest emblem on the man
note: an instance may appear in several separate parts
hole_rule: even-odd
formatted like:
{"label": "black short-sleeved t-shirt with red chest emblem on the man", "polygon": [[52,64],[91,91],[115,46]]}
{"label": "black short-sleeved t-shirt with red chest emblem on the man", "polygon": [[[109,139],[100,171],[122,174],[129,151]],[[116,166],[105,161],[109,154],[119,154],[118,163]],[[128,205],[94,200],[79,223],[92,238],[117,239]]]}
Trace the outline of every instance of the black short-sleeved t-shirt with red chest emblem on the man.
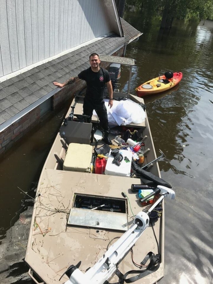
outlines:
{"label": "black short-sleeved t-shirt with red chest emblem on the man", "polygon": [[87,90],[85,97],[95,101],[103,99],[105,84],[111,80],[109,72],[101,67],[99,72],[93,72],[92,68],[89,67],[80,72],[78,78],[86,81]]}

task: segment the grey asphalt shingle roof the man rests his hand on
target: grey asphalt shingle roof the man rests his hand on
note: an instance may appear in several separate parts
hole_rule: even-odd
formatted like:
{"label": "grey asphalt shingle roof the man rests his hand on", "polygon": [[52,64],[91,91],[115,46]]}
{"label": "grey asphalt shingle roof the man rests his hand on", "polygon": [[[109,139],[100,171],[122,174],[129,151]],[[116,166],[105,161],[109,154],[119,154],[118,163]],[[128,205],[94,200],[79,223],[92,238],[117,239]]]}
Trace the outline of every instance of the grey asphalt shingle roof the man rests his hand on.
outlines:
{"label": "grey asphalt shingle roof the man rests his hand on", "polygon": [[0,83],[0,131],[8,120],[13,120],[25,108],[39,102],[50,92],[59,91],[54,81],[64,82],[90,67],[89,55],[93,52],[110,55],[114,50],[129,43],[142,33],[121,18],[124,37],[116,34],[83,46],[78,50],[34,67]]}

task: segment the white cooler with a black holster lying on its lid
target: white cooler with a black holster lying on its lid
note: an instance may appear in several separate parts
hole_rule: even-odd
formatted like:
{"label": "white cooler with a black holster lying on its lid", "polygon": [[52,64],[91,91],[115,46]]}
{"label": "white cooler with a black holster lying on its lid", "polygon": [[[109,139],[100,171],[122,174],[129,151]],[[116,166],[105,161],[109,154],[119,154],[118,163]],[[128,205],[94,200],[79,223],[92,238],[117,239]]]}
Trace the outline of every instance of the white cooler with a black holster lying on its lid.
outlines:
{"label": "white cooler with a black holster lying on its lid", "polygon": [[[113,164],[114,156],[111,154],[112,149],[109,151],[109,156],[106,162],[105,175],[119,175],[120,177],[129,177],[131,171],[132,153],[128,150],[120,150],[119,153],[122,154],[123,159],[120,166]],[[130,162],[125,162],[124,157],[127,157]]]}

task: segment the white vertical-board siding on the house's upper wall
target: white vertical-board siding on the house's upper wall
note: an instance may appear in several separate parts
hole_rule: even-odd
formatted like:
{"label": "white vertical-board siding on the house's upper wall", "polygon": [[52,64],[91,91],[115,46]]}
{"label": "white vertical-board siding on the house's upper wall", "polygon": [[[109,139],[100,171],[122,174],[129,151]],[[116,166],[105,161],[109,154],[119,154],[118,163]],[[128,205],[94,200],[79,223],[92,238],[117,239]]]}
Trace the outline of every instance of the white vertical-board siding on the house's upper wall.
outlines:
{"label": "white vertical-board siding on the house's upper wall", "polygon": [[0,0],[0,78],[111,32],[104,0]]}

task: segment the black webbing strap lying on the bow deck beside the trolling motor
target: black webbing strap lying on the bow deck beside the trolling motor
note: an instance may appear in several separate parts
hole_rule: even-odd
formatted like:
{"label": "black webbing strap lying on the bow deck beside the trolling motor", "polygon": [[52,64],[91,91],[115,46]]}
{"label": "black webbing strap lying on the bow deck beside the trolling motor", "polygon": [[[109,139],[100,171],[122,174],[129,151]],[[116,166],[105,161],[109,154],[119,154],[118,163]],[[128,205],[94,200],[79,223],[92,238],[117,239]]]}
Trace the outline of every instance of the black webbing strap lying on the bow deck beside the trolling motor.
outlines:
{"label": "black webbing strap lying on the bow deck beside the trolling motor", "polygon": [[[157,270],[159,268],[159,261],[160,261],[160,255],[154,254],[152,251],[150,251],[142,260],[141,266],[145,265],[146,262],[150,259],[149,265],[144,270],[130,270],[126,272],[125,274],[122,274],[120,270],[115,271],[115,274],[119,277],[119,282],[116,283],[109,283],[107,280],[104,282],[104,284],[124,284],[125,283],[133,283],[139,279],[141,279],[144,275],[144,272],[147,272],[148,270],[151,272],[152,270]],[[138,274],[130,278],[126,278],[129,274]]]}

